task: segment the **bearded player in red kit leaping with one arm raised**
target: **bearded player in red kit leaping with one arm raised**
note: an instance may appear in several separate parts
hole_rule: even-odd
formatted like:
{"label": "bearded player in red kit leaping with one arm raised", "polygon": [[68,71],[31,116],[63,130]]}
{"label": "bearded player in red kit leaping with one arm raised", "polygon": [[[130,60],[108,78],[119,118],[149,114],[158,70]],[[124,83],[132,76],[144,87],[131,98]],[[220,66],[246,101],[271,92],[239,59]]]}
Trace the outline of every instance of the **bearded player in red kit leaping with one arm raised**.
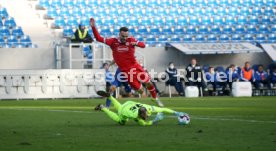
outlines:
{"label": "bearded player in red kit leaping with one arm raised", "polygon": [[121,71],[127,75],[129,85],[142,94],[142,83],[144,83],[152,96],[152,100],[159,106],[164,106],[157,97],[155,87],[150,81],[149,74],[145,72],[134,56],[135,47],[145,48],[145,44],[135,38],[128,37],[128,28],[126,27],[120,28],[118,38],[103,38],[97,31],[93,18],[90,19],[90,25],[96,40],[110,46],[112,49],[114,61]]}

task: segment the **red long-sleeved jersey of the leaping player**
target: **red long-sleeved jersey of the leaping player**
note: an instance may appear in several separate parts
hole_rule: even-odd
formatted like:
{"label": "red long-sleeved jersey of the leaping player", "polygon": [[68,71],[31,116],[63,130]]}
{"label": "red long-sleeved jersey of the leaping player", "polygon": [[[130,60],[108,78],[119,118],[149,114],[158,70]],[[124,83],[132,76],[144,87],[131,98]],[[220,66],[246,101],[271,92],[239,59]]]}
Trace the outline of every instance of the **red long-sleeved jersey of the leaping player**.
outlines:
{"label": "red long-sleeved jersey of the leaping player", "polygon": [[119,38],[103,38],[97,31],[96,27],[92,27],[93,34],[97,41],[105,43],[112,49],[112,55],[115,63],[122,71],[128,71],[137,65],[135,59],[135,46],[131,43],[135,42],[136,46],[145,48],[145,44],[135,38],[128,38],[126,43],[121,43]]}

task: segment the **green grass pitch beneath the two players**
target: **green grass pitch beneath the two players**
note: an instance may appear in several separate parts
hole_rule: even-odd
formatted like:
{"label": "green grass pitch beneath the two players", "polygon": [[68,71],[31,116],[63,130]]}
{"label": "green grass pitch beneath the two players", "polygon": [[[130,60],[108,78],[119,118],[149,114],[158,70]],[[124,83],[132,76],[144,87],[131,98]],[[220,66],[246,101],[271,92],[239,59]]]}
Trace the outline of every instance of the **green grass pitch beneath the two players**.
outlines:
{"label": "green grass pitch beneath the two players", "polygon": [[[152,104],[149,99],[133,99]],[[92,109],[101,99],[0,101],[0,151],[274,151],[276,97],[162,98],[191,123],[166,117],[120,126]],[[121,102],[126,99],[120,100]]]}

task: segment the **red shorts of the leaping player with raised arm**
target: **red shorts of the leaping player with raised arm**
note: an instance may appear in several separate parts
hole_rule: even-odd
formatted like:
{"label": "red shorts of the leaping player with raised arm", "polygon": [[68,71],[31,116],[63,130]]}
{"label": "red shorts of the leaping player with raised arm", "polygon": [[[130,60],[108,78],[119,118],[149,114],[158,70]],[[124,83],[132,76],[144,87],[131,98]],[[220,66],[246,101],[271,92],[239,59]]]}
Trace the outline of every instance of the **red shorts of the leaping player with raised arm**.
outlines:
{"label": "red shorts of the leaping player with raised arm", "polygon": [[123,72],[127,74],[128,84],[134,90],[139,90],[142,88],[142,83],[148,83],[150,81],[150,75],[139,64]]}

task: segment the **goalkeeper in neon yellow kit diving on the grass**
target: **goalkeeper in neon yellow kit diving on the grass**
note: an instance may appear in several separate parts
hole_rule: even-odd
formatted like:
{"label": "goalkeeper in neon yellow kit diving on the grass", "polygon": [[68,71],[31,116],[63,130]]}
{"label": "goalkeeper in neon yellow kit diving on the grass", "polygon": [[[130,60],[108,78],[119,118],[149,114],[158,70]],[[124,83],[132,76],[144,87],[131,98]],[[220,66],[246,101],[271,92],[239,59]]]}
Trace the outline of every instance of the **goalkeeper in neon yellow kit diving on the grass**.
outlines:
{"label": "goalkeeper in neon yellow kit diving on the grass", "polygon": [[[157,106],[141,104],[133,101],[127,101],[124,104],[120,104],[120,102],[118,102],[118,100],[111,96],[110,93],[107,93],[105,91],[98,91],[97,94],[110,99],[118,112],[115,113],[110,111],[103,104],[99,104],[98,106],[96,106],[95,110],[103,111],[112,120],[121,125],[125,125],[129,119],[133,119],[143,126],[153,125],[163,119],[163,113],[172,114],[177,117],[183,116],[184,114],[182,112],[176,112],[168,108],[160,108]],[[156,117],[153,120],[147,120],[152,115],[152,113],[157,113]]]}

